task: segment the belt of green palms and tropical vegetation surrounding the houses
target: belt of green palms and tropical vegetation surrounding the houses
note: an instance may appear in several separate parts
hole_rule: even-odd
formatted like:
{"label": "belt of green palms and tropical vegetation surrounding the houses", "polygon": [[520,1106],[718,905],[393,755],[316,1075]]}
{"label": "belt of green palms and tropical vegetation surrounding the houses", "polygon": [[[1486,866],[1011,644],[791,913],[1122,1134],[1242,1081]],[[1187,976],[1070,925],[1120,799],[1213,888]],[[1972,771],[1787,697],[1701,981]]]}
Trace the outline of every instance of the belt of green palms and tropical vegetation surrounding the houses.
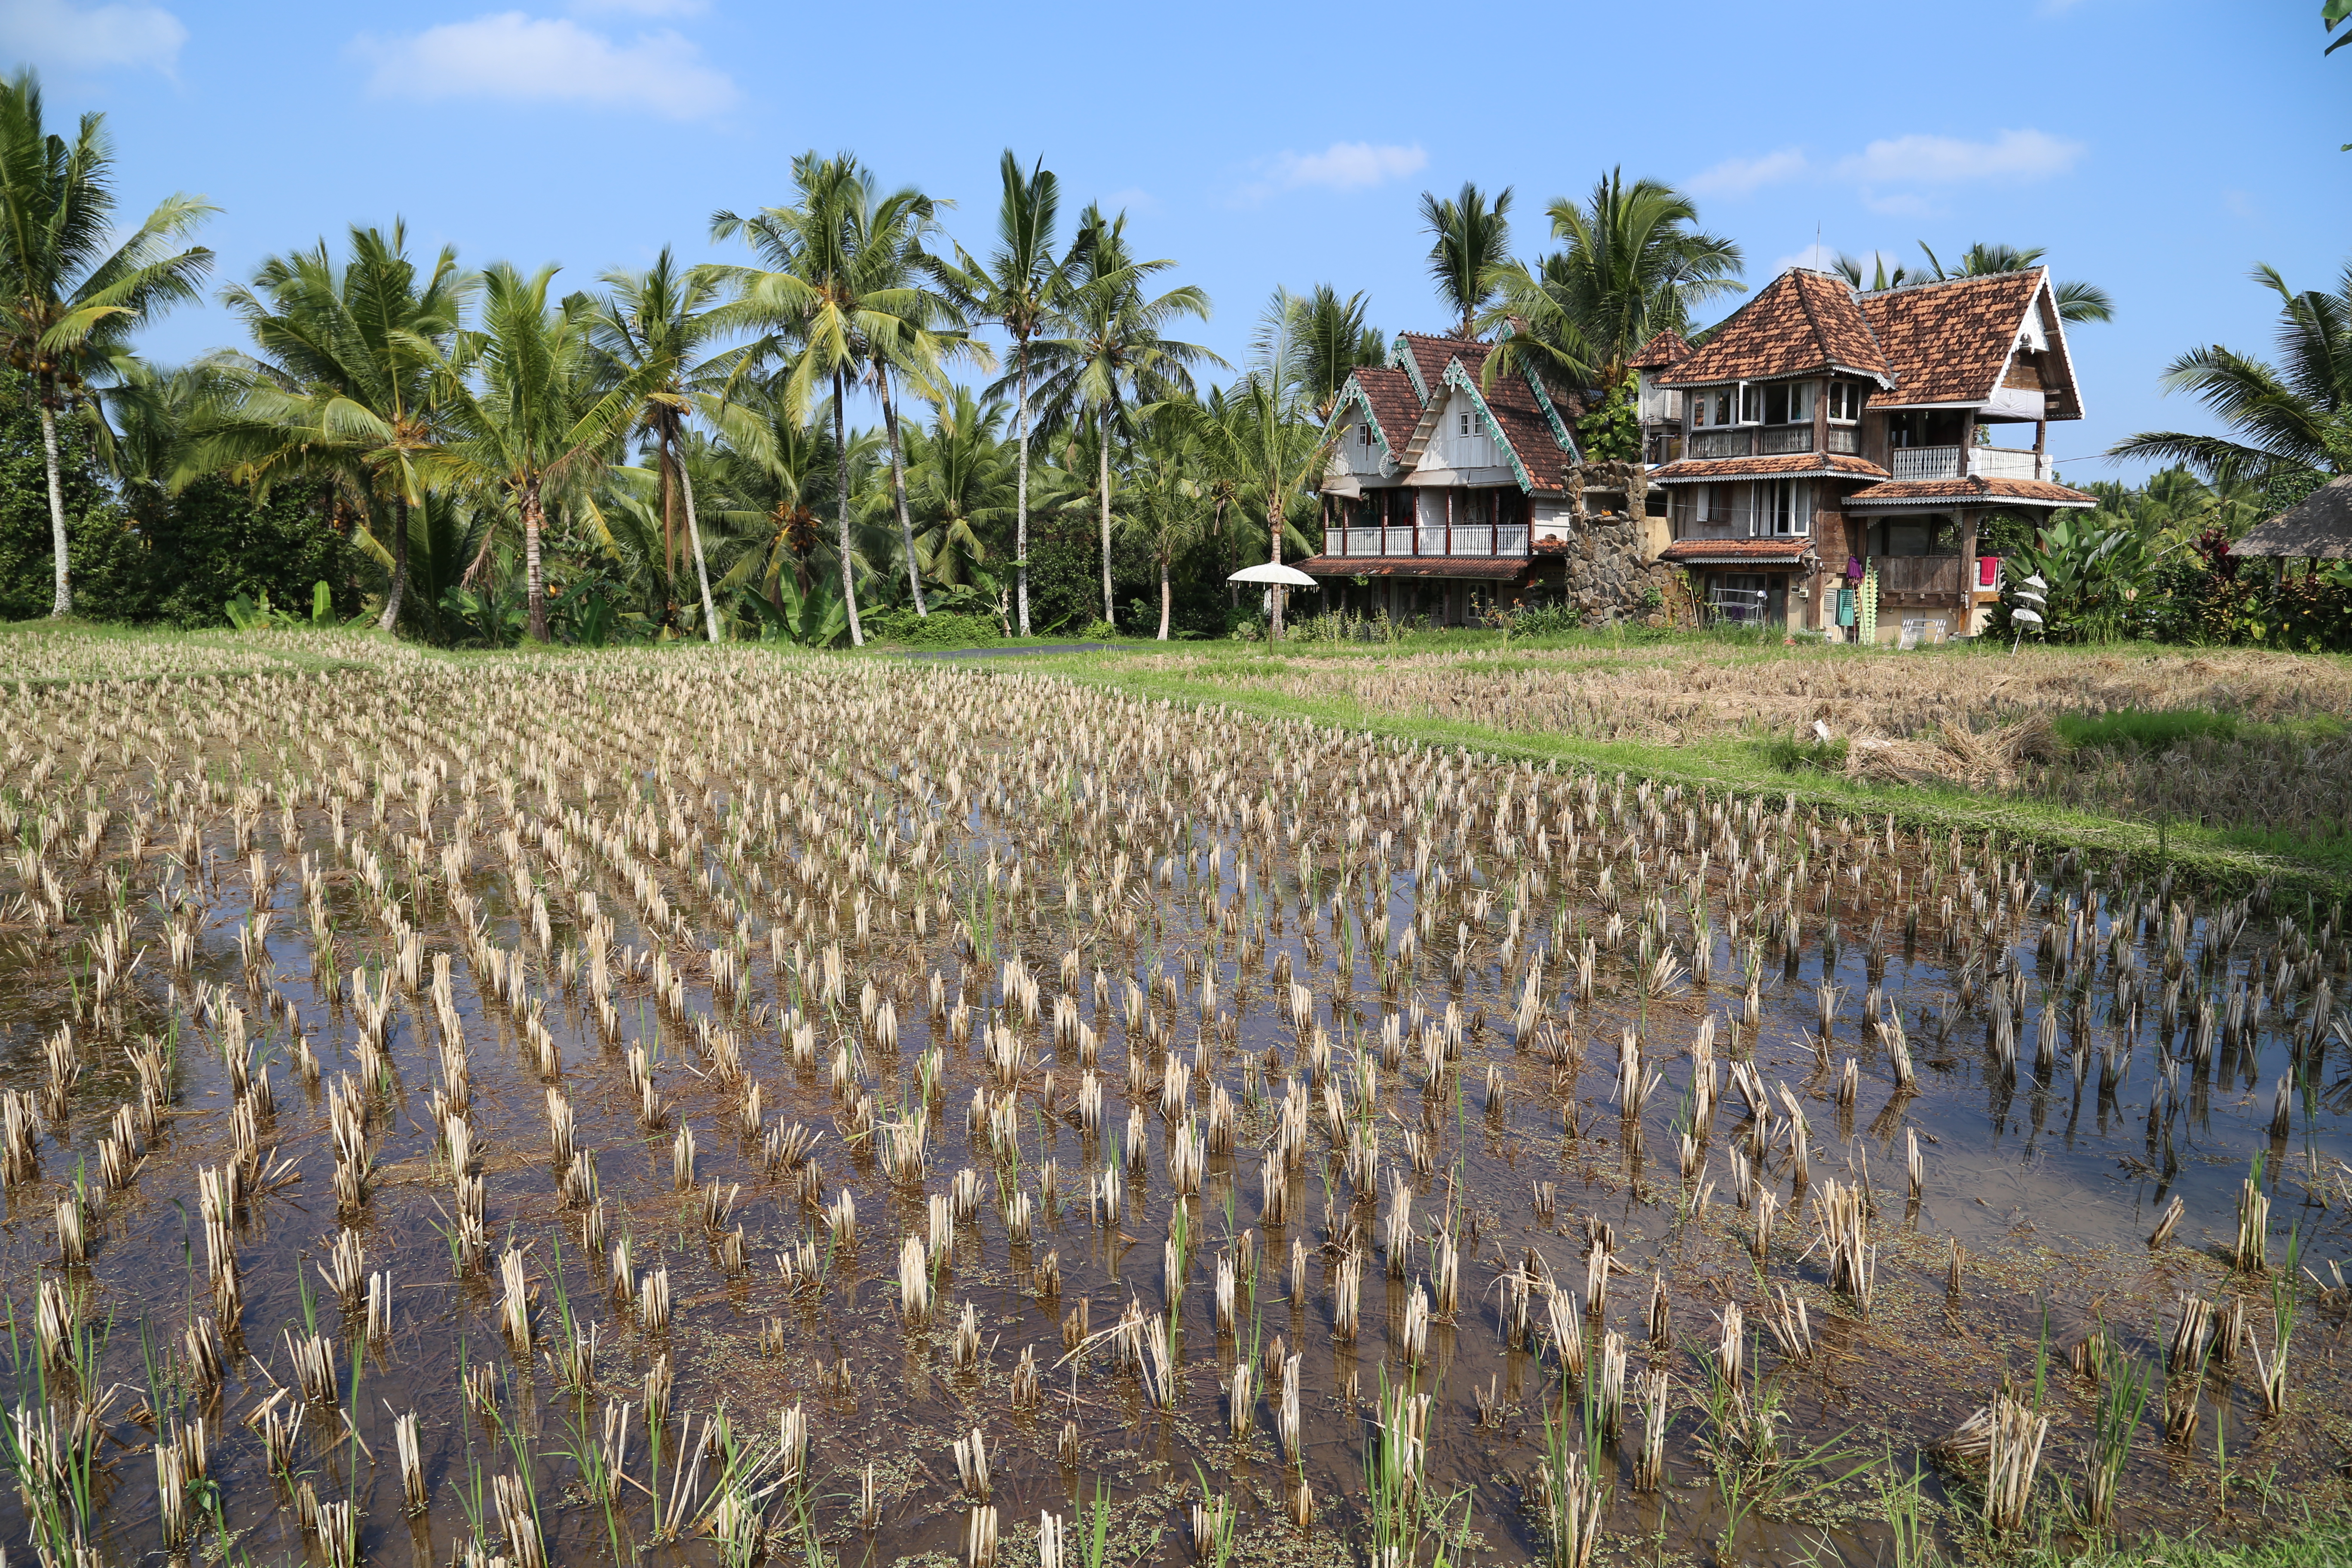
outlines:
{"label": "belt of green palms and tropical vegetation surrounding the houses", "polygon": [[[0,82],[0,614],[332,616],[489,646],[1279,628],[1282,595],[1225,578],[1319,543],[1336,404],[1390,353],[1364,294],[1275,289],[1228,367],[1185,336],[1209,296],[1124,214],[1087,205],[1065,233],[1042,160],[1007,150],[997,174],[981,254],[946,202],[811,150],[771,205],[713,214],[717,261],[666,247],[588,287],[362,223],[228,282],[242,341],[165,367],[134,336],[195,299],[212,207],[125,223],[103,118],[49,132],[38,80]],[[1637,458],[1628,362],[1661,331],[1703,341],[1745,287],[1738,244],[1623,169],[1545,205],[1538,254],[1512,254],[1510,216],[1508,188],[1421,197],[1449,329],[1494,343],[1486,376],[1576,393],[1588,456]],[[1867,287],[2042,259],[1919,249]],[[2256,277],[2277,360],[2209,346],[2166,371],[2218,435],[2119,444],[2169,468],[2093,484],[2096,512],[1992,520],[2011,578],[2046,588],[2020,630],[2345,644],[2340,569],[2281,578],[2230,541],[2347,473],[2352,270],[2333,292]],[[2112,317],[2096,284],[2058,299]]]}

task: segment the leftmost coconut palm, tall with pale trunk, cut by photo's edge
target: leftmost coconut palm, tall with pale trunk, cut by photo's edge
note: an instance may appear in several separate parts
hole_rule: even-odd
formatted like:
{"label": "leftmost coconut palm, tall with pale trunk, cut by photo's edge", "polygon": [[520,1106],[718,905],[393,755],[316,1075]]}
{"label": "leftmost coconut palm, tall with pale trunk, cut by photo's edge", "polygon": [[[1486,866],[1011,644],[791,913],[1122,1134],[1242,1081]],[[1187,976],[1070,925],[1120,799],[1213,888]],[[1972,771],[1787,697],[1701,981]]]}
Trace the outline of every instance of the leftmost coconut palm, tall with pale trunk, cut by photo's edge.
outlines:
{"label": "leftmost coconut palm, tall with pale trunk, cut by photo's edge", "polygon": [[42,125],[40,78],[19,71],[0,82],[0,353],[24,371],[40,411],[56,552],[52,616],[73,614],[56,416],[111,381],[132,334],[195,299],[212,268],[209,249],[176,247],[214,207],[172,195],[122,233],[113,162],[106,115],[82,115],[68,141]]}

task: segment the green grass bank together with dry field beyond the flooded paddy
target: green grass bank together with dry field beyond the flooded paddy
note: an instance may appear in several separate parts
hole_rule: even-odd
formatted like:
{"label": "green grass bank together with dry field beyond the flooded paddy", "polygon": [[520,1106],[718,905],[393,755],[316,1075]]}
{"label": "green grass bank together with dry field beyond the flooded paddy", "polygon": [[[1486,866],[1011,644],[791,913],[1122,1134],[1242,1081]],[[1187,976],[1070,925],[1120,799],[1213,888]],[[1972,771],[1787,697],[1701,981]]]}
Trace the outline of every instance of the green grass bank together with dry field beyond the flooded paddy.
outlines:
{"label": "green grass bank together with dry field beyond the flooded paddy", "polygon": [[2077,849],[2133,875],[2352,893],[2352,661],[1449,635],[1134,644],[1025,672]]}

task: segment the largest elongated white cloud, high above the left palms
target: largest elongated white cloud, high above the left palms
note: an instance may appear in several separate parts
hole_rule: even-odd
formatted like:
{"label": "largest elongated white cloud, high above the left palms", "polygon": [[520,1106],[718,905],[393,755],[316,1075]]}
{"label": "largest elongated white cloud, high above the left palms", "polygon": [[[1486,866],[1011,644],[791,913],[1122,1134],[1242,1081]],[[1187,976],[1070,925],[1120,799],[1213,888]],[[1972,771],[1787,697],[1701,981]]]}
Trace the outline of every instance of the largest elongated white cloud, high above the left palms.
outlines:
{"label": "largest elongated white cloud, high above the left palms", "polygon": [[736,85],[677,33],[614,42],[576,21],[496,12],[409,38],[360,35],[369,92],[395,99],[515,99],[652,108],[694,120],[729,108]]}

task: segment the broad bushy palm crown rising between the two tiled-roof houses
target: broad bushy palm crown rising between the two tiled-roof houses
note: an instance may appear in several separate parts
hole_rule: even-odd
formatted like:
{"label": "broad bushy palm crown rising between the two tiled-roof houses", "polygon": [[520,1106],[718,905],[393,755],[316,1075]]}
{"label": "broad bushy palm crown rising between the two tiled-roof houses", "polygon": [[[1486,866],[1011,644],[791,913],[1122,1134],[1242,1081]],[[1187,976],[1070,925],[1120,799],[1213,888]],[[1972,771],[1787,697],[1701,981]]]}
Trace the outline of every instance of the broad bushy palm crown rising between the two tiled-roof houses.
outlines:
{"label": "broad bushy palm crown rising between the two tiled-roof houses", "polygon": [[1510,327],[1486,376],[1545,369],[1578,388],[1616,388],[1625,362],[1661,331],[1691,334],[1693,308],[1740,292],[1740,247],[1700,233],[1698,207],[1651,179],[1611,169],[1578,205],[1545,207],[1559,249],[1494,270],[1496,306],[1479,322]]}

